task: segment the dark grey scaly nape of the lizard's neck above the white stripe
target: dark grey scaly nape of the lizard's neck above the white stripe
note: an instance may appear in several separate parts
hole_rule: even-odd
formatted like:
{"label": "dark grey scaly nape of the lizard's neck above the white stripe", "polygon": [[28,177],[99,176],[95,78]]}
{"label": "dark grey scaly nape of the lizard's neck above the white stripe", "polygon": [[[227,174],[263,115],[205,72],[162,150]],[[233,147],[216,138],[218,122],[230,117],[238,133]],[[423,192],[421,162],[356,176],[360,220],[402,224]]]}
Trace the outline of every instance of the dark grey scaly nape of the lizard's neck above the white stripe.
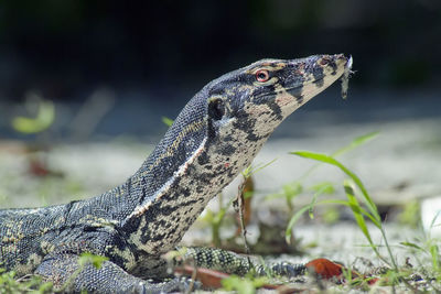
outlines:
{"label": "dark grey scaly nape of the lizard's neck above the white stripe", "polygon": [[[206,106],[203,95],[197,94],[181,111],[163,139],[142,163],[141,167],[122,185],[86,199],[85,209],[92,217],[105,217],[133,230],[130,221],[139,218],[135,211],[146,207],[159,197],[159,194],[190,157],[194,156],[206,138]],[[161,215],[163,211],[144,211]],[[130,220],[130,221],[129,221]]]}

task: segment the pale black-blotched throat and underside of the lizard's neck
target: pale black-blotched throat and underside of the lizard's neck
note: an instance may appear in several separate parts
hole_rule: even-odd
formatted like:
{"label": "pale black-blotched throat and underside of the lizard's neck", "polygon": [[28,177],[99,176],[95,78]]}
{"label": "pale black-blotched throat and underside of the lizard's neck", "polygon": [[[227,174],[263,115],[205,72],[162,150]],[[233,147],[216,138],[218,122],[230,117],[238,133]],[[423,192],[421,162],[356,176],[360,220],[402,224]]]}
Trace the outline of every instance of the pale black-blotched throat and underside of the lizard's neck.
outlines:
{"label": "pale black-blotched throat and underside of the lizard's neck", "polygon": [[232,142],[237,140],[215,143],[203,140],[173,177],[136,207],[122,225],[135,248],[153,255],[173,249],[207,203],[250,164],[263,143],[251,144],[249,154],[229,154],[225,151]]}

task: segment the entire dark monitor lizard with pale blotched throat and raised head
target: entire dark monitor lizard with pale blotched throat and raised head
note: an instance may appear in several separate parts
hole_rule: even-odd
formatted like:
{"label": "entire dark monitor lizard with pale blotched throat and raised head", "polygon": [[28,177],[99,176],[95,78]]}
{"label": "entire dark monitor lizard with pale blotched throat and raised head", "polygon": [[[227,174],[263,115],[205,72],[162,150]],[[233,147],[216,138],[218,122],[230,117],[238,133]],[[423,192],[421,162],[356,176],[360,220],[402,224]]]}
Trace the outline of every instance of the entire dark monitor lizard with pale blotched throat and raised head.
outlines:
{"label": "entire dark monitor lizard with pale blotched throat and raised head", "polygon": [[[161,258],[295,109],[347,69],[342,54],[262,59],[226,74],[197,92],[127,182],[67,205],[0,210],[0,261],[18,275],[35,273],[68,291],[155,293],[182,283]],[[108,258],[79,268],[83,252]],[[248,259],[224,250],[189,249],[200,266],[245,274]],[[295,265],[275,264],[295,274]],[[263,273],[263,269],[257,269]]]}

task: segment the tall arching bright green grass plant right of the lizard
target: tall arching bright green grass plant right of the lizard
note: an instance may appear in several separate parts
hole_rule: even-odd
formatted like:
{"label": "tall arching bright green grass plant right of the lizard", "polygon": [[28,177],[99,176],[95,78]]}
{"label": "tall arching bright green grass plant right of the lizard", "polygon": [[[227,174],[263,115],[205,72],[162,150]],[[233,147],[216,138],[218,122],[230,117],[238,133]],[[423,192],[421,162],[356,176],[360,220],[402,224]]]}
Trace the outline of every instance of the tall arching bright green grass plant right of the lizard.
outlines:
{"label": "tall arching bright green grass plant right of the lizard", "polygon": [[[314,195],[313,200],[311,202],[310,205],[301,208],[297,214],[292,216],[286,231],[287,241],[289,242],[291,240],[290,236],[292,227],[299,219],[300,215],[305,211],[310,211],[310,214],[312,214],[312,209],[314,206],[322,204],[337,204],[347,206],[351,208],[355,221],[359,230],[363,232],[366,240],[368,241],[368,244],[372,248],[372,250],[385,264],[387,264],[387,270],[380,274],[381,277],[378,280],[378,283],[390,286],[395,286],[398,283],[404,283],[406,287],[412,291],[412,293],[422,293],[420,290],[418,290],[410,283],[411,275],[415,273],[415,270],[413,271],[411,270],[412,265],[407,265],[407,266],[398,265],[397,258],[394,254],[388,238],[386,236],[385,228],[383,226],[377,206],[373,202],[362,179],[354,172],[347,168],[344,164],[342,164],[340,161],[335,160],[330,155],[309,152],[309,151],[297,151],[297,152],[291,152],[291,154],[334,165],[338,167],[348,178],[344,179],[343,182],[343,187],[346,194],[346,200],[327,199],[318,202],[316,195]],[[374,242],[366,224],[367,219],[370,220],[370,222],[380,231],[381,239],[384,242],[383,246],[384,248],[386,248],[388,253],[387,258],[380,254],[379,246]],[[424,272],[427,281],[435,280],[437,282],[440,282],[441,281],[441,257],[439,252],[440,240],[428,238],[426,242],[419,242],[419,243],[423,243],[423,246],[412,242],[401,242],[401,246],[405,246],[416,251],[413,255],[416,257],[417,260],[419,260],[419,257],[422,255],[421,253],[426,253],[427,255],[429,255],[431,260],[431,268],[427,269],[427,264],[424,264],[424,262],[420,262],[421,265],[420,268],[422,269],[422,272]],[[354,281],[357,283],[362,282],[362,284],[363,283],[366,284],[368,283],[368,279],[369,277],[362,277],[362,279],[356,279]],[[439,291],[434,287],[434,285],[430,286],[437,292]]]}

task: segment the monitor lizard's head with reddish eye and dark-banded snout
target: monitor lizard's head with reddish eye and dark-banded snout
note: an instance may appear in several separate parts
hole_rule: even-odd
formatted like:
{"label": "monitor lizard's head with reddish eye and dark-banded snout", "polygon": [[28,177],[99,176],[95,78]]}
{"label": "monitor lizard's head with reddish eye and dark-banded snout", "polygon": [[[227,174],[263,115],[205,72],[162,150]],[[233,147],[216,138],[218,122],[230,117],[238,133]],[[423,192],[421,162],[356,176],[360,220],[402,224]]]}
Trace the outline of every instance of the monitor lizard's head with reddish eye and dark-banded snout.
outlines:
{"label": "monitor lizard's head with reddish eye and dark-banded snout", "polygon": [[215,133],[243,130],[250,141],[271,134],[300,106],[349,70],[351,57],[314,55],[299,59],[262,59],[206,86],[208,120]]}

